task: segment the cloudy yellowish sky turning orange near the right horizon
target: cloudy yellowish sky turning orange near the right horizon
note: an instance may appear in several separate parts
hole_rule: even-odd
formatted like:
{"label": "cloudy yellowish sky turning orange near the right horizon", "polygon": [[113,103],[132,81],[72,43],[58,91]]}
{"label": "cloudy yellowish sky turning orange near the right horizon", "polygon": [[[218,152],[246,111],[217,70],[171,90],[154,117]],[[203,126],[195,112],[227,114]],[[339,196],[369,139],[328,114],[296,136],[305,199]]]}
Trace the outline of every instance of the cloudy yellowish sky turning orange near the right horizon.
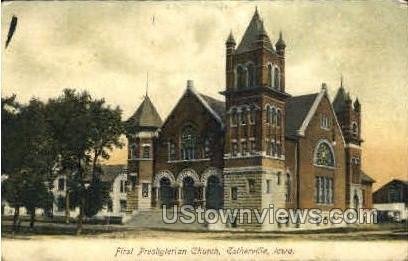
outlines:
{"label": "cloudy yellowish sky turning orange near the right horizon", "polygon": [[[186,88],[222,99],[225,40],[241,39],[255,7],[286,42],[286,90],[334,98],[340,75],[362,104],[363,170],[380,185],[408,180],[408,8],[399,1],[2,2],[2,96],[47,100],[65,88],[120,106],[146,92],[162,118]],[[12,15],[17,29],[4,44]],[[126,151],[108,163],[126,163]]]}

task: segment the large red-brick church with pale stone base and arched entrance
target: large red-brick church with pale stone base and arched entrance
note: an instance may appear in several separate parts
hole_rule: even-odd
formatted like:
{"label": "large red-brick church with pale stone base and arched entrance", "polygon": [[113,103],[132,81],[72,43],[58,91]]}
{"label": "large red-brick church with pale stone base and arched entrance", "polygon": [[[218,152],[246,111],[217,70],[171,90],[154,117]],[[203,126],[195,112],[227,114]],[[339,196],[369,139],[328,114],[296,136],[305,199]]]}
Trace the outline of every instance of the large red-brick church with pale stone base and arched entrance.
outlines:
{"label": "large red-brick church with pale stone base and arched entrance", "polygon": [[[226,41],[225,101],[192,81],[163,122],[146,95],[127,121],[129,212],[205,208],[371,207],[361,170],[361,105],[341,82],[290,95],[282,33],[275,44],[258,11],[237,45]],[[262,227],[263,224],[257,226]]]}

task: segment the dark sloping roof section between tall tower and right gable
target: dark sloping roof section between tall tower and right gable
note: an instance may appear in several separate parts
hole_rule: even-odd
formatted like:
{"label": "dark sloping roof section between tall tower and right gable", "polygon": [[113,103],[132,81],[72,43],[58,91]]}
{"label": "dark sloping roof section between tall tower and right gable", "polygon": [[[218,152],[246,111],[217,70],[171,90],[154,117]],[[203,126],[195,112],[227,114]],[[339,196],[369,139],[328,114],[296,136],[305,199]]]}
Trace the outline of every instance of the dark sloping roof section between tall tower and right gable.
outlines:
{"label": "dark sloping roof section between tall tower and right gable", "polygon": [[302,126],[307,113],[310,111],[318,93],[294,96],[286,101],[285,134],[293,137]]}

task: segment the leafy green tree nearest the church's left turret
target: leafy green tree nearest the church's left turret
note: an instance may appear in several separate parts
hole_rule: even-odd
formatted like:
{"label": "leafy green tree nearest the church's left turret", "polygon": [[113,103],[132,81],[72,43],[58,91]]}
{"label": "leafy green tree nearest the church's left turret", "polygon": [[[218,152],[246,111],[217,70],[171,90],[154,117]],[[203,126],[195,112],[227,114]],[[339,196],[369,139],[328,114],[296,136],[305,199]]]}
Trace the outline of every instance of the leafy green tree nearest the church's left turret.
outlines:
{"label": "leafy green tree nearest the church's left turret", "polygon": [[[80,234],[84,215],[96,213],[102,207],[99,202],[105,202],[107,197],[96,168],[100,159],[109,158],[109,150],[122,146],[121,110],[106,106],[103,99],[92,99],[87,92],[66,89],[60,97],[49,100],[48,111],[62,169],[70,173],[69,201],[80,210],[77,219]],[[89,173],[92,178],[87,187]]]}

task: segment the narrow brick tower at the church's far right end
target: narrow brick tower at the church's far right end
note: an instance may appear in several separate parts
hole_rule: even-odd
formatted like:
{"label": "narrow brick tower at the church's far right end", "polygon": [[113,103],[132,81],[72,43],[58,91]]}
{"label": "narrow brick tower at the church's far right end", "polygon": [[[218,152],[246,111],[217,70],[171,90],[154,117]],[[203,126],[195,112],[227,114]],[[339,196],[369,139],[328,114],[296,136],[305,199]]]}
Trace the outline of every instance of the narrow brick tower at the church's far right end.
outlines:
{"label": "narrow brick tower at the church's far right end", "polygon": [[340,88],[333,101],[333,108],[346,142],[346,204],[361,207],[361,105],[358,98],[353,102],[346,93],[341,78]]}

